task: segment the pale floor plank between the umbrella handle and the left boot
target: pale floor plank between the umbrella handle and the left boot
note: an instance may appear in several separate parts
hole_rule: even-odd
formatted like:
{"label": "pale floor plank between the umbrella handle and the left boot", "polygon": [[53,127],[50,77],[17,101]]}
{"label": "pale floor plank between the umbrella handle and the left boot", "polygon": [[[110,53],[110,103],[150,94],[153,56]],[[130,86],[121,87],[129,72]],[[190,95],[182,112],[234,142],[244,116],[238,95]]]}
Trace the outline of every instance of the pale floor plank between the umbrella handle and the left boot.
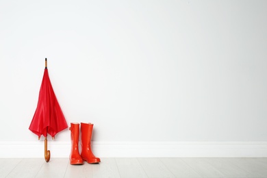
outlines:
{"label": "pale floor plank between the umbrella handle and the left boot", "polygon": [[66,168],[68,166],[68,158],[51,158],[47,163],[42,164],[36,177],[64,177]]}

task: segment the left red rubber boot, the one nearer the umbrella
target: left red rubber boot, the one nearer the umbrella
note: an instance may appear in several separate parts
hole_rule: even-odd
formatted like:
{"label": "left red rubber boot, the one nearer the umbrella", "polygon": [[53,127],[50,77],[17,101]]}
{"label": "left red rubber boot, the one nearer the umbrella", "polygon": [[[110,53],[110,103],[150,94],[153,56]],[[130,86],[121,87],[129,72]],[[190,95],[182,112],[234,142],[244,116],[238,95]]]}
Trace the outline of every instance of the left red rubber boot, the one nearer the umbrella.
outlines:
{"label": "left red rubber boot, the one nearer the umbrella", "polygon": [[79,123],[71,123],[71,154],[70,163],[71,164],[84,164],[81,155],[79,155]]}

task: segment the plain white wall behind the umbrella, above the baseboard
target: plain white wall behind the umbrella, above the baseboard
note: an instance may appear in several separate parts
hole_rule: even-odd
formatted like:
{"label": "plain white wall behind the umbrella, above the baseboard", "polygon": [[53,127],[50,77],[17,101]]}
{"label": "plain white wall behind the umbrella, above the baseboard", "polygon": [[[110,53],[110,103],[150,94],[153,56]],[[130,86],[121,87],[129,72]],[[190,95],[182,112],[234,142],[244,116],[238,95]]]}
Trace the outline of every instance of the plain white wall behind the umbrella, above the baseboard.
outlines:
{"label": "plain white wall behind the umbrella, above the baseboard", "polygon": [[94,123],[94,141],[267,142],[266,8],[1,0],[0,142],[38,142],[44,58],[67,123]]}

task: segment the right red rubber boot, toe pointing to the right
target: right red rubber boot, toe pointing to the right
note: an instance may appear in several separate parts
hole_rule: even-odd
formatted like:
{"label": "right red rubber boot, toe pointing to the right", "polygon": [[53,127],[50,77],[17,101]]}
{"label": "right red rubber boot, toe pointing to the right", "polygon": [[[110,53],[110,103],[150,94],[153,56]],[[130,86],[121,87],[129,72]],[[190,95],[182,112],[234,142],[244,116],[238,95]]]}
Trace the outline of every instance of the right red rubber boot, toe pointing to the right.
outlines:
{"label": "right red rubber boot, toe pointing to the right", "polygon": [[91,149],[92,127],[91,123],[81,123],[81,157],[89,164],[99,163],[100,158],[95,157]]}

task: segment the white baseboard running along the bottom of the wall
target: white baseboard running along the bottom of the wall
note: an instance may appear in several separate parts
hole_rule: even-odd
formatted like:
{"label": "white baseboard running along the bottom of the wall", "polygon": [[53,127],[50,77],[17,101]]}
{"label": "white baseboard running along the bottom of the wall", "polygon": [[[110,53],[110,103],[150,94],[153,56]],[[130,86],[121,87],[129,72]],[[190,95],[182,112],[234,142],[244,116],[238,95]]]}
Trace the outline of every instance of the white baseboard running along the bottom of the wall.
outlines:
{"label": "white baseboard running along the bottom of the wall", "polygon": [[[68,157],[70,142],[49,141],[51,157]],[[92,142],[98,157],[267,157],[267,142]],[[0,142],[0,157],[43,157],[44,142]]]}

